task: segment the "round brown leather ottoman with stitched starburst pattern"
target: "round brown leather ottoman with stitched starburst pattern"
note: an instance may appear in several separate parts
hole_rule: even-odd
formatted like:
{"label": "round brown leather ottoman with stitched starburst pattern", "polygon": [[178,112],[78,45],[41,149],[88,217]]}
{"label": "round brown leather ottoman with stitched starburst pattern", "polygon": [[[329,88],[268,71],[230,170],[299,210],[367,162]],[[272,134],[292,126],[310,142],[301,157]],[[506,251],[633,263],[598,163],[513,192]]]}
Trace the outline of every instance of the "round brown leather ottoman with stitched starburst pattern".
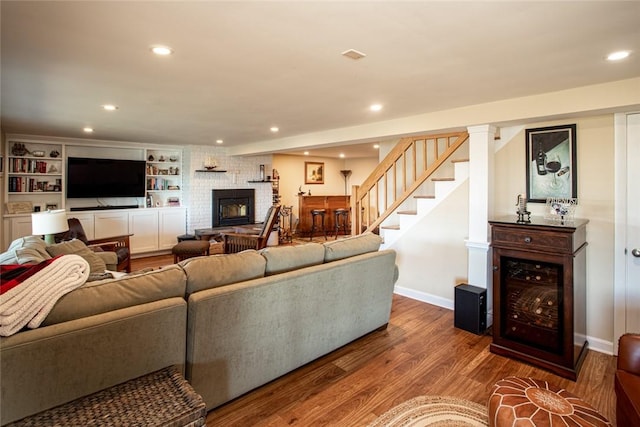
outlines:
{"label": "round brown leather ottoman with stitched starburst pattern", "polygon": [[568,391],[532,378],[508,377],[493,386],[489,426],[611,426],[591,405]]}

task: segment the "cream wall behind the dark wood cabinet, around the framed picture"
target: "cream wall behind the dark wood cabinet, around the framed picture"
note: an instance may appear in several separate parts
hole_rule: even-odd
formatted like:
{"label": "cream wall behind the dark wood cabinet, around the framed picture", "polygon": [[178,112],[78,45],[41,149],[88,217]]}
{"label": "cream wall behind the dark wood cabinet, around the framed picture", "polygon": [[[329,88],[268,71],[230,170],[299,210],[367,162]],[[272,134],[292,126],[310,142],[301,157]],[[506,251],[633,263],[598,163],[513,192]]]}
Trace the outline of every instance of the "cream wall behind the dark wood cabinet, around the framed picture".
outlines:
{"label": "cream wall behind the dark wood cabinet, around the framed picture", "polygon": [[[614,127],[613,114],[539,122],[527,128],[576,124],[578,207],[587,225],[587,334],[590,346],[612,351],[614,255]],[[525,193],[525,130],[496,153],[495,213],[516,218],[515,200]],[[530,203],[533,215],[543,204]]]}

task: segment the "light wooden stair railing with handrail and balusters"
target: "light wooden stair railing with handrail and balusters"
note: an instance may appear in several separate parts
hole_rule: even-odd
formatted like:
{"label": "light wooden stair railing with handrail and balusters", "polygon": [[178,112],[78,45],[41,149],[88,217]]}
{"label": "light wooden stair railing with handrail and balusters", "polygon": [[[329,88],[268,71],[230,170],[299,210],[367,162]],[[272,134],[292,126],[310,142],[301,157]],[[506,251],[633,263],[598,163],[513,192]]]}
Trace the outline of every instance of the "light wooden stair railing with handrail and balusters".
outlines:
{"label": "light wooden stair railing with handrail and balusters", "polygon": [[[440,144],[438,141],[446,140],[446,148],[440,151]],[[469,139],[469,133],[462,132],[449,132],[437,135],[419,135],[402,138],[396,146],[385,156],[385,158],[378,164],[369,177],[360,186],[353,186],[352,194],[355,195],[351,199],[351,211],[354,213],[352,216],[352,222],[354,226],[351,228],[353,234],[359,234],[360,232],[373,231],[376,227],[380,226],[382,222],[391,215],[405,200],[413,194],[413,192],[420,187],[433,173],[458,149],[462,144]],[[433,160],[428,163],[427,144],[428,141],[434,141],[433,144]],[[422,171],[418,171],[418,162],[416,156],[418,154],[418,144],[422,143],[422,158],[421,163],[426,168]],[[407,155],[410,153],[410,155]],[[396,197],[397,188],[397,165],[401,162],[402,173],[402,188],[401,194]],[[409,164],[407,164],[409,163]],[[411,174],[411,181],[407,187],[407,173]],[[389,183],[389,178],[392,182]],[[380,212],[380,190],[382,185],[382,198],[384,211],[377,216],[376,213]],[[393,188],[392,192],[393,200],[389,203],[389,188]],[[375,211],[371,212],[371,200],[372,194],[375,197]],[[365,208],[366,207],[366,208]],[[364,214],[365,218],[362,218],[361,214]],[[366,225],[366,229],[362,229],[363,225]]]}

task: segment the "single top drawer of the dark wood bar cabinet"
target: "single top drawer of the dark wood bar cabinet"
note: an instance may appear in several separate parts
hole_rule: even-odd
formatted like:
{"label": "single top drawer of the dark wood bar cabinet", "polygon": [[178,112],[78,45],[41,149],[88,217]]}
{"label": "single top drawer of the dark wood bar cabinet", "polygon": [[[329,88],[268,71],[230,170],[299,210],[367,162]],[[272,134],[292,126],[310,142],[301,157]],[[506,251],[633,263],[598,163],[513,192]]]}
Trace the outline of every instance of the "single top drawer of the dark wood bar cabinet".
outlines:
{"label": "single top drawer of the dark wood bar cabinet", "polygon": [[492,228],[492,244],[526,250],[533,249],[553,253],[572,253],[571,234],[517,230],[514,228]]}

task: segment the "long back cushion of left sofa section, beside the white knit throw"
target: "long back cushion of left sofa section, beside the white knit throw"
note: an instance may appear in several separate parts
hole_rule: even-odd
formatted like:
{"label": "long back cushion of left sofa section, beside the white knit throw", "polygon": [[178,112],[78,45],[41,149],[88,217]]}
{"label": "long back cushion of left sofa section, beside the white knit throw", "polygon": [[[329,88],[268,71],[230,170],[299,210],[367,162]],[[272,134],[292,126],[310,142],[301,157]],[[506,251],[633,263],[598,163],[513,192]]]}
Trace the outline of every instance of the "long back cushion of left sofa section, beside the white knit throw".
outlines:
{"label": "long back cushion of left sofa section, beside the white knit throw", "polygon": [[60,298],[43,325],[53,325],[172,297],[184,298],[184,271],[171,265],[119,279],[87,282]]}

